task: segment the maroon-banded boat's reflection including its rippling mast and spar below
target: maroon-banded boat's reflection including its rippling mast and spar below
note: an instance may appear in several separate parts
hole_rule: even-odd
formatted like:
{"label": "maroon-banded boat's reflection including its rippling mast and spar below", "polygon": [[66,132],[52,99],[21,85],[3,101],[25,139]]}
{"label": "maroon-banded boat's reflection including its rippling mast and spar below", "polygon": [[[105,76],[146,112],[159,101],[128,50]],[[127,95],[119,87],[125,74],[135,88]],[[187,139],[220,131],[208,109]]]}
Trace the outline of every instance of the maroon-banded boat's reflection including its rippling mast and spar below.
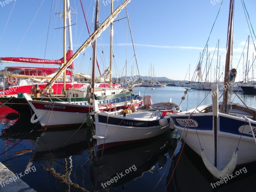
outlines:
{"label": "maroon-banded boat's reflection including its rippling mast and spar below", "polygon": [[[92,134],[95,133],[91,129],[92,127],[69,127],[65,130],[49,129],[41,133],[26,166],[29,169],[36,165],[43,173],[41,179],[44,178],[44,183],[35,184],[34,189],[87,191],[90,188],[90,185],[83,182],[86,177],[84,172],[87,166],[90,168],[90,159],[96,145],[96,140],[92,140]],[[81,173],[85,175],[81,176]]]}

